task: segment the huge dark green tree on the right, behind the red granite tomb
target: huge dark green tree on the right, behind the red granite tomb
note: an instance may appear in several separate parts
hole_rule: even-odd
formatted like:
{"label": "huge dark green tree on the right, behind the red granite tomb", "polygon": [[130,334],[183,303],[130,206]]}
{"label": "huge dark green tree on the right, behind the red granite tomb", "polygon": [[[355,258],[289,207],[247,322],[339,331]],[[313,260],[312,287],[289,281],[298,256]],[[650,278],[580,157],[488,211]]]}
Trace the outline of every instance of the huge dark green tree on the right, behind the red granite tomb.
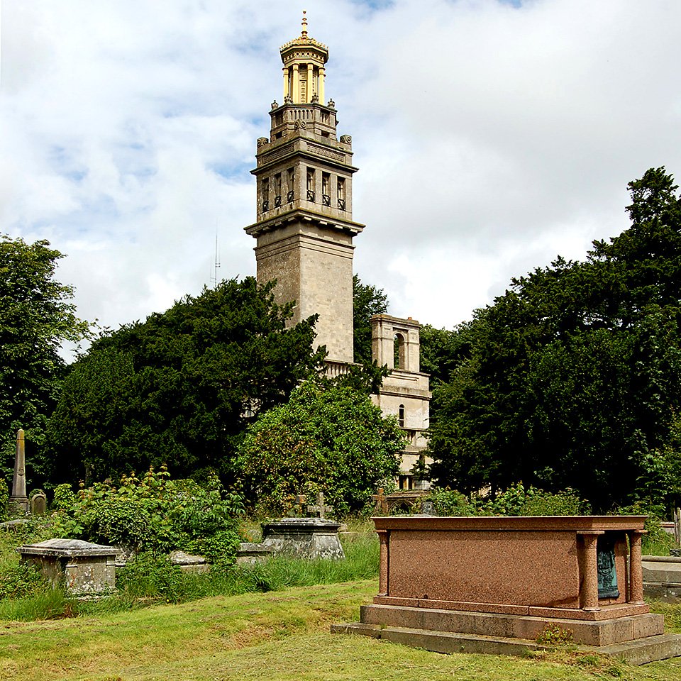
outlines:
{"label": "huge dark green tree on the right, behind the red granite tomb", "polygon": [[[436,388],[441,483],[573,487],[595,509],[638,493],[670,455],[681,406],[681,201],[663,168],[629,184],[631,227],[558,258],[460,327]],[[653,463],[651,463],[653,462]],[[654,465],[653,465],[654,464]]]}

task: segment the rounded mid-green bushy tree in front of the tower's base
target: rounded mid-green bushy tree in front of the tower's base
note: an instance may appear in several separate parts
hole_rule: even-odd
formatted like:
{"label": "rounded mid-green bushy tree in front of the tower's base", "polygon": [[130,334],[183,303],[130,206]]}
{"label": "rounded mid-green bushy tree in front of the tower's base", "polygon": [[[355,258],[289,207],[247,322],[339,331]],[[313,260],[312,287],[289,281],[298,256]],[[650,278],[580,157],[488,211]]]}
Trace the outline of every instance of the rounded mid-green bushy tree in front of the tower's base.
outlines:
{"label": "rounded mid-green bushy tree in front of the tower's base", "polygon": [[403,447],[397,421],[365,394],[310,381],[249,427],[240,473],[247,498],[273,513],[319,490],[336,512],[358,511],[397,475]]}

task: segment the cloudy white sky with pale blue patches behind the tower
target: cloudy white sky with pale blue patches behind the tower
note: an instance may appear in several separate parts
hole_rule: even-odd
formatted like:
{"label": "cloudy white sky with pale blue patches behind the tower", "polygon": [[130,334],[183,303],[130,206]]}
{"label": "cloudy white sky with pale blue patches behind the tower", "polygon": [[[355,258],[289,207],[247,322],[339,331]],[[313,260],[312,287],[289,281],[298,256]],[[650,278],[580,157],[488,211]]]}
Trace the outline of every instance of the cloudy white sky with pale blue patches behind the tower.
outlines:
{"label": "cloudy white sky with pale blue patches behind the tower", "polygon": [[0,232],[66,255],[79,314],[144,319],[255,274],[279,46],[329,46],[355,271],[452,328],[681,179],[679,0],[0,0]]}

